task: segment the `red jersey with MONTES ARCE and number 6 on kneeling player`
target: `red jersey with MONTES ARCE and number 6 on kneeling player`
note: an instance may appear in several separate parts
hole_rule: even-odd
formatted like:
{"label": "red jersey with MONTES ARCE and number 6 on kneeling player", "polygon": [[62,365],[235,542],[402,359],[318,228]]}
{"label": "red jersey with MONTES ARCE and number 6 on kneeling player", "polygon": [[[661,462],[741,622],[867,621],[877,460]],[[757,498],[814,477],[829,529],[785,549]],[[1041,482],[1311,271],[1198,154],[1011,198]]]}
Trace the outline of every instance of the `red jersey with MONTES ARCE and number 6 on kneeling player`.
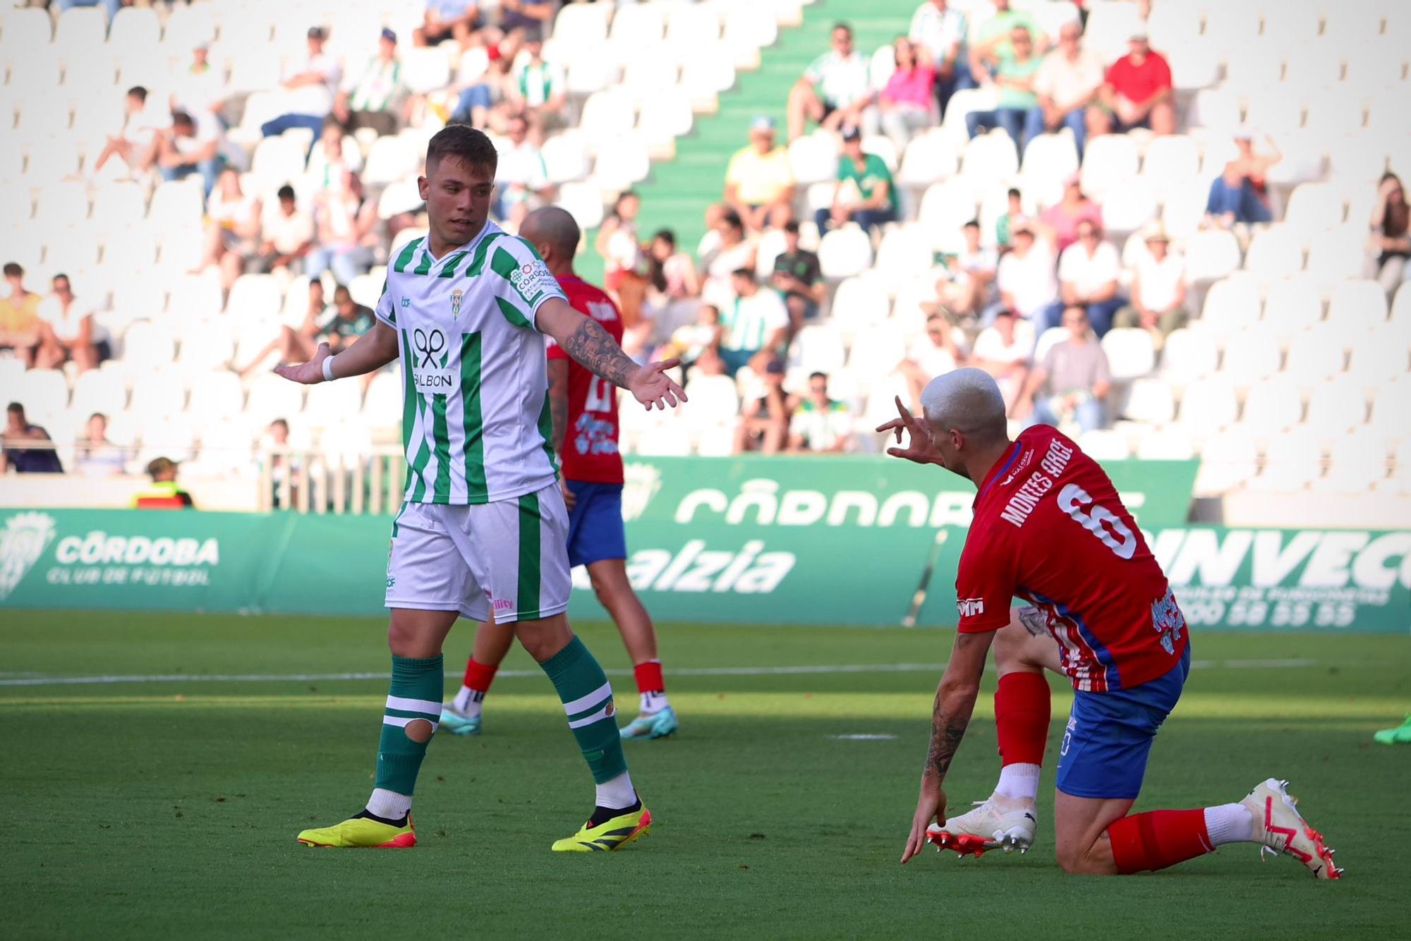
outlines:
{"label": "red jersey with MONTES ARCE and number 6 on kneeling player", "polygon": [[1026,429],[975,495],[955,598],[959,629],[1043,611],[1077,690],[1130,688],[1185,650],[1185,618],[1106,473],[1057,429]]}

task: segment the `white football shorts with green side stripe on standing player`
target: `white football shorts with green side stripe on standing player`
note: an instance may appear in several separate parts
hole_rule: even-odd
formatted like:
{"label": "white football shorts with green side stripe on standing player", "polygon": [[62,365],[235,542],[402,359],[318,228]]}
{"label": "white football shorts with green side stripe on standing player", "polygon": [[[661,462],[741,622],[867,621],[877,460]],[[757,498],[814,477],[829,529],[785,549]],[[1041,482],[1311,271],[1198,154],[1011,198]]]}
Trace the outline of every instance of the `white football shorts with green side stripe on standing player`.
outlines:
{"label": "white football shorts with green side stripe on standing player", "polygon": [[392,521],[387,607],[459,611],[498,624],[569,607],[569,511],[559,484],[492,504],[402,504]]}

